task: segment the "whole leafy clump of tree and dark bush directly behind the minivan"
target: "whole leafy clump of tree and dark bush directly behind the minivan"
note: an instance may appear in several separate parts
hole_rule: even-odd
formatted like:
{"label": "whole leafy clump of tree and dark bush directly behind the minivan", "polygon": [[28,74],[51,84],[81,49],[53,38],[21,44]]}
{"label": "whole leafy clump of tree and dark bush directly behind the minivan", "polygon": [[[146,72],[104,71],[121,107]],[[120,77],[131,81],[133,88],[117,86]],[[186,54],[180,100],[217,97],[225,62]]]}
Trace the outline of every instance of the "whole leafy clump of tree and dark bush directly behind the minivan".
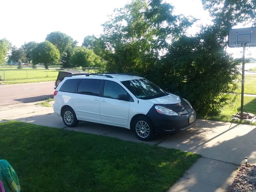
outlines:
{"label": "whole leafy clump of tree and dark bush directly behind the minivan", "polygon": [[162,0],[133,0],[116,10],[100,37],[106,68],[144,76],[188,98],[201,115],[219,112],[238,76],[225,51],[225,32],[209,25],[188,37],[186,29],[195,19],[173,9]]}

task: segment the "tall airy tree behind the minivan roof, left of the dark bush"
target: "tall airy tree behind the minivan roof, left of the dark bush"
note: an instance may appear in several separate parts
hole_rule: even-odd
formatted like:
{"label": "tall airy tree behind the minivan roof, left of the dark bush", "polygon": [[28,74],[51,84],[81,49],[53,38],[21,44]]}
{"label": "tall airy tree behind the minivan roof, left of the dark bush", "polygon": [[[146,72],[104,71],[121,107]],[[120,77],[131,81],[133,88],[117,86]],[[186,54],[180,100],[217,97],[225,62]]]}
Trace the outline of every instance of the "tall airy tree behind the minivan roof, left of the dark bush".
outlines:
{"label": "tall airy tree behind the minivan roof, left of the dark bush", "polygon": [[173,6],[162,0],[133,0],[104,26],[104,59],[107,70],[152,77],[162,54],[194,21],[173,14]]}

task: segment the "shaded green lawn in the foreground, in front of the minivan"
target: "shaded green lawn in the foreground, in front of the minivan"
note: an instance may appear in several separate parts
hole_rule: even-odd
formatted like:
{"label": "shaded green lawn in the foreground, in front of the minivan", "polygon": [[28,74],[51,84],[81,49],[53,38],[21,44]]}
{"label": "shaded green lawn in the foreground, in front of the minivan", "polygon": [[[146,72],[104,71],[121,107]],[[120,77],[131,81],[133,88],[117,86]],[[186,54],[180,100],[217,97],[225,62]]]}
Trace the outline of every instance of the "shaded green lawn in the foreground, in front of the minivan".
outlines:
{"label": "shaded green lawn in the foreground, in front of the minivan", "polygon": [[24,122],[0,123],[24,192],[165,192],[200,155]]}

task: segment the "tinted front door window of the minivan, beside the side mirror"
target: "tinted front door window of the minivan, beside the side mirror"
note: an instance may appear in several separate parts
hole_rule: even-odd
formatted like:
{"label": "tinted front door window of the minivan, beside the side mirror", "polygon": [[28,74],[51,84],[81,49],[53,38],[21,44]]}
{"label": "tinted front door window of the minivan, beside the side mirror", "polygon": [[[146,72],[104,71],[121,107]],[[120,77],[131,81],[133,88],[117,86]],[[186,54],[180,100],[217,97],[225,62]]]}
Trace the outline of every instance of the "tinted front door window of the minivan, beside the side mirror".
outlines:
{"label": "tinted front door window of the minivan, beside the side mirror", "polygon": [[119,84],[112,81],[105,81],[103,96],[107,98],[117,99],[118,95],[127,95],[126,90]]}

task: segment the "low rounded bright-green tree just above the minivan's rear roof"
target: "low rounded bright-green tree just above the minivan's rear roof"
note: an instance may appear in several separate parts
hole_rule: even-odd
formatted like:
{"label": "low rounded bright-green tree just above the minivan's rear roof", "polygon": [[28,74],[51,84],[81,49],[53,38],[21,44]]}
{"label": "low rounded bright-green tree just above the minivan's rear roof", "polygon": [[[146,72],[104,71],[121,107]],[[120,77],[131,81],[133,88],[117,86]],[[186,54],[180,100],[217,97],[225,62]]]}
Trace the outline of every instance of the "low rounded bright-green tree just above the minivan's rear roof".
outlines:
{"label": "low rounded bright-green tree just above the minivan's rear roof", "polygon": [[70,63],[72,67],[96,67],[100,66],[101,60],[93,50],[85,47],[76,47],[74,54],[70,58]]}

